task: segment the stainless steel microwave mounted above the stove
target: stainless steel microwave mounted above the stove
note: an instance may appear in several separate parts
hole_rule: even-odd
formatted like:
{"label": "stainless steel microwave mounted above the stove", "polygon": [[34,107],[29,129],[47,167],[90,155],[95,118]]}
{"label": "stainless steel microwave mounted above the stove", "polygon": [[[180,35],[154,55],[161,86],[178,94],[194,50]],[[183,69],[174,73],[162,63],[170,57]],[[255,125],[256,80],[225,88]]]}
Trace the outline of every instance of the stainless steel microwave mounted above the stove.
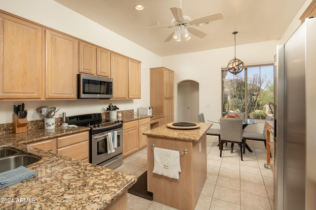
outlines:
{"label": "stainless steel microwave mounted above the stove", "polygon": [[113,79],[78,74],[78,98],[112,98]]}

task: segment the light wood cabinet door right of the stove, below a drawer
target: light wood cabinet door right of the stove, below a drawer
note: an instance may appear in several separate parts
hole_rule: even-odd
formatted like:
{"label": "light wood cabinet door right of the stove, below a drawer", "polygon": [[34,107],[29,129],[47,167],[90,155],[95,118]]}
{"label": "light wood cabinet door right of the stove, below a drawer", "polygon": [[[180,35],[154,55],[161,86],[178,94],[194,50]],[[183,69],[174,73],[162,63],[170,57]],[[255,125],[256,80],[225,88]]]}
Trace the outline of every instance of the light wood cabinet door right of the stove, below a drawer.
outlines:
{"label": "light wood cabinet door right of the stove, below a drawer", "polygon": [[138,127],[123,130],[123,157],[138,150]]}

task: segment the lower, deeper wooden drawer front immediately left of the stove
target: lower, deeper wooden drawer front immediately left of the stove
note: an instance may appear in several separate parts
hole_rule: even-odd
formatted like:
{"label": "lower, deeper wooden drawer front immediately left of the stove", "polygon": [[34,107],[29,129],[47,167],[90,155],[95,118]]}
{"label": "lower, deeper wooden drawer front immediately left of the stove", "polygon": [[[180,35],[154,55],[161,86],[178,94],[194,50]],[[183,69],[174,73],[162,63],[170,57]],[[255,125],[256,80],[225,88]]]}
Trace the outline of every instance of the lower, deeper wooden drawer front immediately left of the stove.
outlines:
{"label": "lower, deeper wooden drawer front immediately left of the stove", "polygon": [[89,156],[89,141],[84,141],[68,147],[57,149],[57,154],[61,154],[77,160],[86,159]]}

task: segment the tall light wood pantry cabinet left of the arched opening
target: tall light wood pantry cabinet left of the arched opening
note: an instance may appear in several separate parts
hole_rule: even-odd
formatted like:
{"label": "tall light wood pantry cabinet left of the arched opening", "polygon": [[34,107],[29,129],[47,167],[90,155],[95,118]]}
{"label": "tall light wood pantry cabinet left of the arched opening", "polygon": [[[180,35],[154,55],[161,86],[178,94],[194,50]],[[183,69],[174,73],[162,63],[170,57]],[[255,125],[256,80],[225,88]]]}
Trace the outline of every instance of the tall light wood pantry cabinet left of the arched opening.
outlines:
{"label": "tall light wood pantry cabinet left of the arched opening", "polygon": [[150,69],[150,105],[153,107],[153,115],[164,117],[163,124],[174,120],[173,90],[172,70],[165,67]]}

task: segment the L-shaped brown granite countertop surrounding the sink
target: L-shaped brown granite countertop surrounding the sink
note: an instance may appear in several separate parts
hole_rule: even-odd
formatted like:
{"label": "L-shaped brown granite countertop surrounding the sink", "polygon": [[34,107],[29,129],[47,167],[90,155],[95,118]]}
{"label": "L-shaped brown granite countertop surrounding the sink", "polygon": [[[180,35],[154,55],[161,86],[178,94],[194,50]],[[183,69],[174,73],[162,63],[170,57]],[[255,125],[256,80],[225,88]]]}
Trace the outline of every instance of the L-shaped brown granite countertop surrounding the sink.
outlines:
{"label": "L-shaped brown granite countertop surrounding the sink", "polygon": [[[137,181],[135,176],[25,145],[86,130],[89,128],[55,127],[0,135],[0,148],[13,148],[41,158],[26,166],[36,172],[36,177],[0,189],[1,198],[14,201],[0,203],[0,209],[99,210],[131,187]],[[17,203],[16,199],[29,200]]]}

